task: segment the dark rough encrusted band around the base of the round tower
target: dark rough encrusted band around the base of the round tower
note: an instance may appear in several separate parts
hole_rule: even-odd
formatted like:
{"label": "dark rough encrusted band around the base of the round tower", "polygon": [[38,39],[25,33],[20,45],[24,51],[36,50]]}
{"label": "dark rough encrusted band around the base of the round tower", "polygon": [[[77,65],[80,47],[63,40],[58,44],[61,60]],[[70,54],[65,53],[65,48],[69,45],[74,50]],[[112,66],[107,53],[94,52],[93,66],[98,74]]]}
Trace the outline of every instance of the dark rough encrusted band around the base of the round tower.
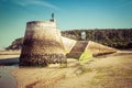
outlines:
{"label": "dark rough encrusted band around the base of the round tower", "polygon": [[63,54],[23,54],[20,57],[21,66],[46,66],[48,64],[66,64],[66,57]]}

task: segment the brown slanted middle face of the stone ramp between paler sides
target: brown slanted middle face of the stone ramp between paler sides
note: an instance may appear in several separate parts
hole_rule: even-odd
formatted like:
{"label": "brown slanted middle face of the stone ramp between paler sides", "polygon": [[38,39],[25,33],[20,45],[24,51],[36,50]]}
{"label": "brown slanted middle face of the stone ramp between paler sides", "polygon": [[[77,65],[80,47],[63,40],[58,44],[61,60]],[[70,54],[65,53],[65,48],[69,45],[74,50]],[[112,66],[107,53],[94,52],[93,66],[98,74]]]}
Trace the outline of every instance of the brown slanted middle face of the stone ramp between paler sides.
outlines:
{"label": "brown slanted middle face of the stone ramp between paler sides", "polygon": [[87,45],[88,41],[77,41],[72,51],[66,54],[66,57],[79,58],[81,54],[86,51]]}

